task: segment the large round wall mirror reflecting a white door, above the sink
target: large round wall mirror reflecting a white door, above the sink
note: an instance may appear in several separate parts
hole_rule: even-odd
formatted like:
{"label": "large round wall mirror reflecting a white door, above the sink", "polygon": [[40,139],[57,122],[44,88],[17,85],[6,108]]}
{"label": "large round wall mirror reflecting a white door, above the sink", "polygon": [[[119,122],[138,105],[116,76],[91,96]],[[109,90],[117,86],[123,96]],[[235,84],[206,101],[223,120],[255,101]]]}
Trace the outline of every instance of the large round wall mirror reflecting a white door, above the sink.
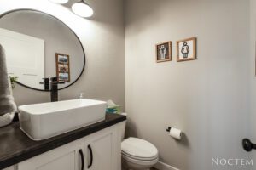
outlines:
{"label": "large round wall mirror reflecting a white door, above the sink", "polygon": [[47,78],[58,77],[58,88],[63,89],[82,75],[84,48],[61,20],[30,9],[11,11],[0,19],[9,76],[17,77],[20,85],[48,91]]}

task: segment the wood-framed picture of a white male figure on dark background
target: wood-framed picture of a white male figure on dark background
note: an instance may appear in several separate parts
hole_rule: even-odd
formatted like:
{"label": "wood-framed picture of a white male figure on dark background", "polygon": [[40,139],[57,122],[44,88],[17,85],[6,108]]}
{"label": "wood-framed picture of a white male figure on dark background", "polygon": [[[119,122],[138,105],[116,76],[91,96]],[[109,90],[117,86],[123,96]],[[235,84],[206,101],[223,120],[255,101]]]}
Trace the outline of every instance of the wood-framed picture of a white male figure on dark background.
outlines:
{"label": "wood-framed picture of a white male figure on dark background", "polygon": [[155,45],[155,59],[157,63],[172,60],[172,42],[161,42]]}

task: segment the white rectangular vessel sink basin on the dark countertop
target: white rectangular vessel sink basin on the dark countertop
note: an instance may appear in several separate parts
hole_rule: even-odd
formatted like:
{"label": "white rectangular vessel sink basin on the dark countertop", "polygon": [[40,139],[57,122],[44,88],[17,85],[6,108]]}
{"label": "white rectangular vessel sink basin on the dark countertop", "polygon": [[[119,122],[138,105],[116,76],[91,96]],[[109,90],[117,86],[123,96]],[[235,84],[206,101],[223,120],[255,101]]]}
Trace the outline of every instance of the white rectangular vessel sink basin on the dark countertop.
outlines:
{"label": "white rectangular vessel sink basin on the dark countertop", "polygon": [[105,101],[93,99],[22,105],[20,129],[33,140],[49,139],[105,120],[106,107]]}

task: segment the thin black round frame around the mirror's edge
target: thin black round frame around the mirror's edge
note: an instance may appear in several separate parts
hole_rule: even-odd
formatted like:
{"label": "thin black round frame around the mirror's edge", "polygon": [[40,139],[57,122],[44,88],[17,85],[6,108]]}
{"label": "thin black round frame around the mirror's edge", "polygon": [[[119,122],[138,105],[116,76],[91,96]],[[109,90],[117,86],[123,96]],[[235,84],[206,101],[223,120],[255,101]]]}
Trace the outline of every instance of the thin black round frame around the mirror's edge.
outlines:
{"label": "thin black round frame around the mirror's edge", "polygon": [[[41,14],[46,14],[48,15],[49,17],[52,17],[54,18],[55,20],[59,20],[64,26],[67,26],[62,20],[58,19],[57,17],[51,15],[51,14],[47,14],[43,11],[39,11],[37,9],[32,9],[32,8],[19,8],[19,9],[15,9],[15,10],[10,10],[8,12],[5,12],[3,14],[0,15],[0,19],[3,18],[3,16],[7,15],[7,14],[10,14],[10,13],[14,13],[14,12],[18,12],[18,11],[32,11],[32,12],[37,12],[37,13],[41,13]],[[84,54],[84,64],[83,64],[83,69],[81,71],[81,73],[79,74],[79,77],[77,77],[76,80],[74,80],[72,83],[70,83],[68,86],[64,87],[64,88],[59,88],[58,90],[62,90],[62,89],[65,89],[65,88],[69,88],[70,86],[72,86],[75,82],[77,82],[79,80],[79,78],[83,75],[84,73],[84,68],[85,68],[85,63],[86,63],[86,57],[85,57],[85,53],[84,53],[84,47],[83,47],[83,44],[82,42],[80,41],[79,37],[77,36],[77,34],[69,27],[67,26],[67,28],[73,32],[73,35],[75,37],[77,37],[77,39],[79,40],[79,43],[81,45],[81,48],[83,50],[83,54]],[[41,92],[49,92],[49,90],[43,90],[43,89],[38,89],[38,88],[32,88],[32,87],[29,87],[29,86],[26,86],[25,84],[21,83],[21,82],[16,82],[17,84],[19,84],[20,86],[23,86],[25,88],[30,88],[32,90],[37,90],[37,91],[41,91]],[[39,82],[38,82],[39,83]]]}

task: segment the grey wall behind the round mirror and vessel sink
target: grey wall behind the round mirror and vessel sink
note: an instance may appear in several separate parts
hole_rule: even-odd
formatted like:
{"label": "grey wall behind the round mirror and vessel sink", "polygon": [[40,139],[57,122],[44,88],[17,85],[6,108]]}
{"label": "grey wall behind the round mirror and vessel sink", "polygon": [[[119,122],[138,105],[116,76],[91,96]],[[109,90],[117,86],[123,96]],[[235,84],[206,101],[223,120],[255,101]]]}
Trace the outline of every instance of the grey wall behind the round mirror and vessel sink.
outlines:
{"label": "grey wall behind the round mirror and vessel sink", "polygon": [[[96,13],[90,19],[73,14],[69,8],[45,0],[0,0],[0,13],[14,8],[34,8],[55,15],[77,33],[84,45],[84,74],[72,87],[61,90],[59,98],[78,99],[79,93],[89,99],[113,99],[125,106],[123,1],[97,0],[90,5]],[[15,4],[15,5],[14,5]],[[18,105],[49,101],[49,93],[17,85],[14,91]]]}

